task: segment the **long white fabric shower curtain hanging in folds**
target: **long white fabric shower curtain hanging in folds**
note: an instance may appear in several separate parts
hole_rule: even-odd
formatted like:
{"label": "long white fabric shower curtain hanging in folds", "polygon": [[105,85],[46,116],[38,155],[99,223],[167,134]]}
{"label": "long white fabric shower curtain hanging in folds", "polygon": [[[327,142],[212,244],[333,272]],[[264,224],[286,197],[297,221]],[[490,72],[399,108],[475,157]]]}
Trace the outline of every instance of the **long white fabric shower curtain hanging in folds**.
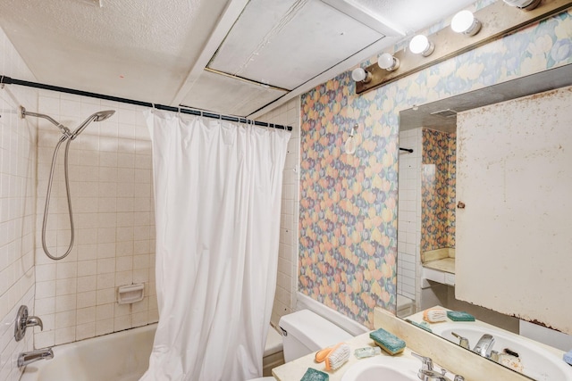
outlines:
{"label": "long white fabric shower curtain hanging in folds", "polygon": [[262,374],[290,132],[146,112],[159,323],[140,380]]}

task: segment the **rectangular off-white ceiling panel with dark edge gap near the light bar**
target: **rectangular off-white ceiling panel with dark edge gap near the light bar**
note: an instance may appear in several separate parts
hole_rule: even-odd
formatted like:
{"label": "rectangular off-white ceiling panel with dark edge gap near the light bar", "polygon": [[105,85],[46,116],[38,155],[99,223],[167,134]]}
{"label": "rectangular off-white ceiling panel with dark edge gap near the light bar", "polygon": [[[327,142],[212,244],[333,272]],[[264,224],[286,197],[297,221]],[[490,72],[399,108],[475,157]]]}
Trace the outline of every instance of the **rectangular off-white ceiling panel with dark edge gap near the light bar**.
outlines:
{"label": "rectangular off-white ceiling panel with dark edge gap near the light bar", "polygon": [[381,38],[319,0],[252,0],[209,68],[293,89]]}

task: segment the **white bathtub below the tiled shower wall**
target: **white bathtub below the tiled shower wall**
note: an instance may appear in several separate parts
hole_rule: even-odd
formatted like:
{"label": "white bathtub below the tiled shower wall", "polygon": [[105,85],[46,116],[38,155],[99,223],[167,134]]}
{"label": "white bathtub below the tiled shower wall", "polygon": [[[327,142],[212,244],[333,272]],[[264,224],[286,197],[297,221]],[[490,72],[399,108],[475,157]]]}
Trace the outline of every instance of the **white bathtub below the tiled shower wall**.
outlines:
{"label": "white bathtub below the tiled shower wall", "polygon": [[54,347],[21,381],[137,381],[149,365],[156,324]]}

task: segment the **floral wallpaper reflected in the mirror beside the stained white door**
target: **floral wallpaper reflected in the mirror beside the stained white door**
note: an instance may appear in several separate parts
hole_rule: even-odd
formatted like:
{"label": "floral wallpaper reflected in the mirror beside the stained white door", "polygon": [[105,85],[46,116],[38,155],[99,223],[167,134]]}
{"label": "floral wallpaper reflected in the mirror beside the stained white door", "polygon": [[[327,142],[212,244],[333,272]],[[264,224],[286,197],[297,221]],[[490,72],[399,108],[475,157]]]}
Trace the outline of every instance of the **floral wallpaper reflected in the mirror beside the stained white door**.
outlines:
{"label": "floral wallpaper reflected in the mirror beside the stained white door", "polygon": [[422,252],[455,247],[456,135],[423,128]]}

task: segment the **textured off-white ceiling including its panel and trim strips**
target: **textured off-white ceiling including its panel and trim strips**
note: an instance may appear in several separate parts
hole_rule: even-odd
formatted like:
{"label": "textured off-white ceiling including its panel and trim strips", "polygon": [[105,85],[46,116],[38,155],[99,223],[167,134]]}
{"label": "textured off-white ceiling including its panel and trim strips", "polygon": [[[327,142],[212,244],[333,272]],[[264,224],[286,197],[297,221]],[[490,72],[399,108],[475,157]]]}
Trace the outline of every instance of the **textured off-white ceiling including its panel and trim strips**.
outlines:
{"label": "textured off-white ceiling including its panel and trim strips", "polygon": [[26,80],[247,116],[470,1],[425,3],[0,0],[0,27],[35,77]]}

